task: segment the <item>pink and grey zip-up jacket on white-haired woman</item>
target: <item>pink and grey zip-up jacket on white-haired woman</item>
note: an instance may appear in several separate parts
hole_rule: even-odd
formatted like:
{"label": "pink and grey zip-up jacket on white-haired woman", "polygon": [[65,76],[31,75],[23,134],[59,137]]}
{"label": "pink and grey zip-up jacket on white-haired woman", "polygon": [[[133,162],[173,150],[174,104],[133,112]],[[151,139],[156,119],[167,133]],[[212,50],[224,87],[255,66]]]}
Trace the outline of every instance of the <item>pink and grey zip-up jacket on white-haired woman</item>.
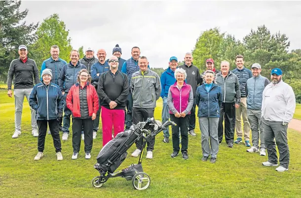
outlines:
{"label": "pink and grey zip-up jacket on white-haired woman", "polygon": [[182,88],[180,89],[175,82],[170,86],[167,96],[167,105],[170,114],[175,114],[177,112],[190,114],[190,110],[193,105],[193,91],[191,85],[184,82]]}

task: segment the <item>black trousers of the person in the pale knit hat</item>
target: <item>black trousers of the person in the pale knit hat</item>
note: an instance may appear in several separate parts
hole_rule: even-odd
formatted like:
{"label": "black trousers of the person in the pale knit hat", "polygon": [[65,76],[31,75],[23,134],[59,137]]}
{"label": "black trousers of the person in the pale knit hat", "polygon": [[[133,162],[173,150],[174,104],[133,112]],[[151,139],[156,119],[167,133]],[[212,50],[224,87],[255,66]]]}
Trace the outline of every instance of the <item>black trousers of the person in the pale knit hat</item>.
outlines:
{"label": "black trousers of the person in the pale knit hat", "polygon": [[45,137],[47,133],[47,123],[53,139],[55,152],[62,151],[61,138],[59,133],[59,122],[56,119],[37,120],[38,124],[38,152],[43,152],[45,148]]}

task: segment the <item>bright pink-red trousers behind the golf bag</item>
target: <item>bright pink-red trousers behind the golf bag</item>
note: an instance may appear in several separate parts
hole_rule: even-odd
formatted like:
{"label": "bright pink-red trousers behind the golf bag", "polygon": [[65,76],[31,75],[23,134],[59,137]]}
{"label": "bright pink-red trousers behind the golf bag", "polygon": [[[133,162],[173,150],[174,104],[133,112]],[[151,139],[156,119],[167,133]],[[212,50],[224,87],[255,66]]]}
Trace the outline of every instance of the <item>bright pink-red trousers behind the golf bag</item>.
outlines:
{"label": "bright pink-red trousers behind the golf bag", "polygon": [[101,107],[101,121],[103,125],[103,146],[112,140],[112,129],[114,137],[124,131],[124,110],[107,109]]}

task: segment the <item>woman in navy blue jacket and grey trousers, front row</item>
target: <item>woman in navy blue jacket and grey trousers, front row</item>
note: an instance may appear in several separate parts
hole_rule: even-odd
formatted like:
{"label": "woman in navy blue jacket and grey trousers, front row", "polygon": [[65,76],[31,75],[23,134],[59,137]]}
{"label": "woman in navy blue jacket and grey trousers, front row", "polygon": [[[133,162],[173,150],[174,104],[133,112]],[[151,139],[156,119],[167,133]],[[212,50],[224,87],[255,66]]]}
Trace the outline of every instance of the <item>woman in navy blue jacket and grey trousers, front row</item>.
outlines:
{"label": "woman in navy blue jacket and grey trousers, front row", "polygon": [[[215,163],[219,151],[218,123],[220,118],[220,105],[223,101],[222,89],[215,83],[214,72],[207,70],[204,74],[205,83],[196,89],[196,104],[198,105],[197,117],[201,130],[202,161]],[[209,146],[209,140],[211,149]]]}

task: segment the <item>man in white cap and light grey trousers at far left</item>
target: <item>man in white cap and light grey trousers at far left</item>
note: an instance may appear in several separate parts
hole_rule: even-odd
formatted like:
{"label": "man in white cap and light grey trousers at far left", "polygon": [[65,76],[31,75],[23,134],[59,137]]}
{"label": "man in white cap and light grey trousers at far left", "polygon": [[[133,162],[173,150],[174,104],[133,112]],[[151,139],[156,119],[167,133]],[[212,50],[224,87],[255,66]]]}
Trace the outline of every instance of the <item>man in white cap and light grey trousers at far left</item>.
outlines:
{"label": "man in white cap and light grey trousers at far left", "polygon": [[[14,79],[14,98],[15,98],[15,132],[12,138],[17,138],[21,134],[21,118],[23,110],[24,96],[29,101],[29,96],[34,88],[34,83],[40,82],[38,77],[38,68],[36,62],[33,59],[27,57],[28,51],[26,45],[19,46],[19,58],[11,61],[8,77],[7,77],[7,95],[12,97],[11,84]],[[34,137],[38,137],[38,125],[35,118],[36,111],[32,108],[31,120],[32,120],[32,134]]]}

